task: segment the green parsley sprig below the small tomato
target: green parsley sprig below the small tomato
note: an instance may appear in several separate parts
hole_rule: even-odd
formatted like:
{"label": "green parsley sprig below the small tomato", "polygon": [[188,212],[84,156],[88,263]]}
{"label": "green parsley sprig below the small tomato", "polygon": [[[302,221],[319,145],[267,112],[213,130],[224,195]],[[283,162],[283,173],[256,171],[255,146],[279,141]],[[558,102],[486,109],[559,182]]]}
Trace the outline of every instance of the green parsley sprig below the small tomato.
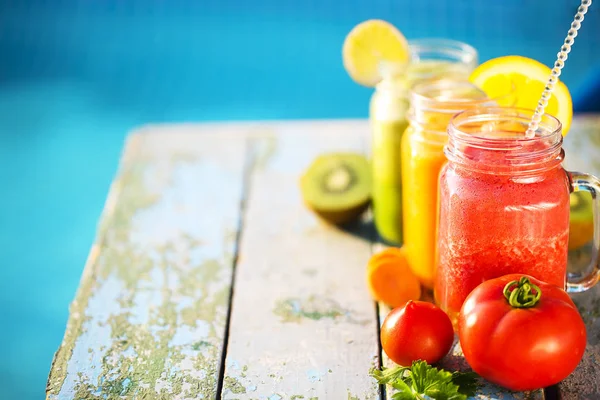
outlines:
{"label": "green parsley sprig below the small tomato", "polygon": [[477,391],[477,374],[448,372],[425,361],[414,361],[410,367],[372,370],[380,385],[390,385],[398,392],[393,400],[467,400]]}

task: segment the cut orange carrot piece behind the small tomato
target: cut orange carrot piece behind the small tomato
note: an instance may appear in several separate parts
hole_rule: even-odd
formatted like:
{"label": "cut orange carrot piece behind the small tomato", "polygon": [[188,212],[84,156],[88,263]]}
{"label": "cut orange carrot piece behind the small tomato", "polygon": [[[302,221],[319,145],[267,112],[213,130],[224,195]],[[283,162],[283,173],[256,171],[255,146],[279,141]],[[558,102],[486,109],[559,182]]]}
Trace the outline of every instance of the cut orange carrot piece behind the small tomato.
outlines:
{"label": "cut orange carrot piece behind the small tomato", "polygon": [[367,285],[375,300],[390,307],[421,297],[421,284],[410,269],[403,248],[388,248],[371,257]]}

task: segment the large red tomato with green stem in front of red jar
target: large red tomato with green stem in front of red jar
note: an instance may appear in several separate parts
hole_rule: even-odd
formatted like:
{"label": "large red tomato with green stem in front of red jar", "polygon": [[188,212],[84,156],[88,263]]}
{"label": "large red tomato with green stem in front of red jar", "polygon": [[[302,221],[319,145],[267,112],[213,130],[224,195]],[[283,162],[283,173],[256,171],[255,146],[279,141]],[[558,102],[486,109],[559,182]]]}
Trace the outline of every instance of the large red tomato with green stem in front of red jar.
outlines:
{"label": "large red tomato with green stem in front of red jar", "polygon": [[462,306],[458,337],[475,372],[512,390],[560,382],[586,345],[585,325],[569,295],[521,274],[477,286]]}

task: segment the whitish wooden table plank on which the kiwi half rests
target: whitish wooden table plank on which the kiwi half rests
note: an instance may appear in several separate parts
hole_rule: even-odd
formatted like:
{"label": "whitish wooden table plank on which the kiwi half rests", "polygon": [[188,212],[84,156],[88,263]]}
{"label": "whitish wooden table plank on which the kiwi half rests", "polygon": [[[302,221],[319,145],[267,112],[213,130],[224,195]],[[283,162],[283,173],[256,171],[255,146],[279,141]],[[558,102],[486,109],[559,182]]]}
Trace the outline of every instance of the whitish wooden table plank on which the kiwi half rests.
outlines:
{"label": "whitish wooden table plank on which the kiwi half rests", "polygon": [[377,318],[366,231],[320,222],[298,178],[325,151],[364,148],[364,124],[280,126],[258,143],[236,272],[223,399],[375,399]]}

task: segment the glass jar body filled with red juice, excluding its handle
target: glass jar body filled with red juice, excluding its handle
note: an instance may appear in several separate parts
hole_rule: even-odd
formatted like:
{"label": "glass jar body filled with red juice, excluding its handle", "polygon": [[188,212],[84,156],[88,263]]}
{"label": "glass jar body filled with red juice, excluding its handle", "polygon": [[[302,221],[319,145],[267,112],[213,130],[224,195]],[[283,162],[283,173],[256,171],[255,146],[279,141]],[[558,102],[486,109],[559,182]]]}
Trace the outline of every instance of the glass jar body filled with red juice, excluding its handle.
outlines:
{"label": "glass jar body filled with red juice, excluding its handle", "polygon": [[518,273],[566,287],[572,183],[562,167],[561,125],[544,116],[527,137],[531,114],[474,110],[449,125],[434,297],[453,322],[489,279]]}

